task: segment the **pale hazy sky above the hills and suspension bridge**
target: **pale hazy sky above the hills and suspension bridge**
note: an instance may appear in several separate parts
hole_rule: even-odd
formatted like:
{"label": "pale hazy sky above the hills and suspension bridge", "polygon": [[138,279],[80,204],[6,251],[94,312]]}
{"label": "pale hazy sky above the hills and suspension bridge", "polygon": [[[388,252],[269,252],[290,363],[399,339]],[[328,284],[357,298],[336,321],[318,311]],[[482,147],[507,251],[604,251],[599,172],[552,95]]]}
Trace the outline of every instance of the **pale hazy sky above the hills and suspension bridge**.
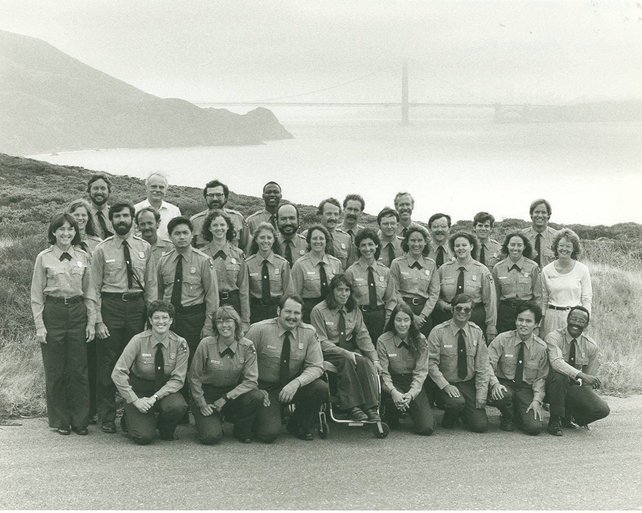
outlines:
{"label": "pale hazy sky above the hills and suspension bridge", "polygon": [[[1,0],[42,38],[161,97],[556,103],[640,97],[639,2]],[[370,75],[370,76],[368,76]]]}

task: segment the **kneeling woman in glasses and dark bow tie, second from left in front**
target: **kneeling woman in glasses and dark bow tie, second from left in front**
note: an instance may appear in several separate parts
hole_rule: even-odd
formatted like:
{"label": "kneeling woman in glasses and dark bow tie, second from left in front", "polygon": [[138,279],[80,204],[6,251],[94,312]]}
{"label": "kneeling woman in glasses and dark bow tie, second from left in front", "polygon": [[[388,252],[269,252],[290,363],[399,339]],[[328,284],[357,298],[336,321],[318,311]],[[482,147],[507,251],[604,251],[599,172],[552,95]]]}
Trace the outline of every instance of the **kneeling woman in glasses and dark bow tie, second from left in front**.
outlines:
{"label": "kneeling woman in glasses and dark bow tie, second from left in front", "polygon": [[263,406],[256,349],[243,337],[241,317],[230,305],[214,312],[213,324],[214,334],[198,344],[189,369],[198,439],[206,445],[220,442],[225,414],[234,423],[232,435],[248,444],[254,417]]}

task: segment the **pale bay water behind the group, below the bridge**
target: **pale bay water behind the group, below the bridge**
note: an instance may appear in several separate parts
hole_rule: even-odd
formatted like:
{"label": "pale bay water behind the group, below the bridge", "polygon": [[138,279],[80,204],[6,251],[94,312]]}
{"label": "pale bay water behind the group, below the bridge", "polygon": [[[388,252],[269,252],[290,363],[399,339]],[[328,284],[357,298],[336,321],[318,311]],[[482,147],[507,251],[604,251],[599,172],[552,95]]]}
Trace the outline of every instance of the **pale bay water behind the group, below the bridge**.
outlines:
{"label": "pale bay water behind the group, below the bridge", "polygon": [[254,196],[275,180],[285,199],[312,205],[356,192],[370,214],[406,190],[415,198],[413,219],[422,221],[435,212],[472,219],[480,210],[528,219],[530,202],[546,198],[557,223],[642,223],[642,122],[494,124],[490,108],[412,107],[402,126],[395,107],[272,111],[295,139],[32,158],[141,178],[162,169],[170,184],[195,187],[218,178]]}

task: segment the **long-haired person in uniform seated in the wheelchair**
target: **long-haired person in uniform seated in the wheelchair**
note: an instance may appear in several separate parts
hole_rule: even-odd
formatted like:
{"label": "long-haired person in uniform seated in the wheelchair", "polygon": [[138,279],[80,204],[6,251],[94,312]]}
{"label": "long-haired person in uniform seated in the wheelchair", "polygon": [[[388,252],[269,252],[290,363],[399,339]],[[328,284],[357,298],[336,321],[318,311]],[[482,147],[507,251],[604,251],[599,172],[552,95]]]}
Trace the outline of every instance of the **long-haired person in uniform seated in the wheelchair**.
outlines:
{"label": "long-haired person in uniform seated in the wheelchair", "polygon": [[[354,421],[379,421],[376,373],[381,371],[377,351],[352,297],[352,285],[334,276],[324,301],[310,314],[325,361],[338,369],[341,407]],[[364,356],[366,355],[366,356]]]}

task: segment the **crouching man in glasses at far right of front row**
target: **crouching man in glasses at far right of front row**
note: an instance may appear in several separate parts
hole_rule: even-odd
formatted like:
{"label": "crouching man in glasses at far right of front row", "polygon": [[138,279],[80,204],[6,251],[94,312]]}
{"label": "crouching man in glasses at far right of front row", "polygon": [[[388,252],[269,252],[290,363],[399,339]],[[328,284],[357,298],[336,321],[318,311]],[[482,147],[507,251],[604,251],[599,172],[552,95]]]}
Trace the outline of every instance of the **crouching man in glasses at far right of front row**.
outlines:
{"label": "crouching man in glasses at far right of front row", "polygon": [[548,432],[557,437],[562,436],[562,427],[575,429],[575,423],[588,426],[611,412],[606,401],[593,391],[602,383],[596,376],[598,346],[583,333],[590,318],[586,308],[573,307],[568,312],[566,328],[548,333],[544,339],[551,366],[546,378],[551,412]]}

